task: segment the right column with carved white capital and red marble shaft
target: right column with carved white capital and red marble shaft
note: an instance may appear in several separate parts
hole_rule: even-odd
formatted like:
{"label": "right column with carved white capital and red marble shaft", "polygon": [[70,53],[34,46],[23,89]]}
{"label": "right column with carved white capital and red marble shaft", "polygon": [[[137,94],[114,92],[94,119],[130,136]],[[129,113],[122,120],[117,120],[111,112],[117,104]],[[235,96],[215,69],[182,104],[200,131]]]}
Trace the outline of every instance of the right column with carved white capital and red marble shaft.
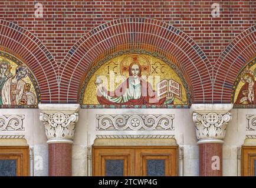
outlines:
{"label": "right column with carved white capital and red marble shaft", "polygon": [[222,144],[232,104],[193,104],[193,122],[199,145],[199,175],[222,176]]}

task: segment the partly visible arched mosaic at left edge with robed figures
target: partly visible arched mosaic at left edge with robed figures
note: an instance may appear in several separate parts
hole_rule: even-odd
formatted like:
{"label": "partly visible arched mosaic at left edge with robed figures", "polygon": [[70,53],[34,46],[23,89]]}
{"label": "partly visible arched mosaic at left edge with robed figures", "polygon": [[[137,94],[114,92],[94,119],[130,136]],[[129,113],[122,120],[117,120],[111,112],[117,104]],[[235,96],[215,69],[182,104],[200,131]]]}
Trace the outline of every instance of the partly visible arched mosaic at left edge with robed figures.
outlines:
{"label": "partly visible arched mosaic at left edge with robed figures", "polygon": [[37,80],[23,62],[0,51],[0,76],[0,108],[38,107]]}

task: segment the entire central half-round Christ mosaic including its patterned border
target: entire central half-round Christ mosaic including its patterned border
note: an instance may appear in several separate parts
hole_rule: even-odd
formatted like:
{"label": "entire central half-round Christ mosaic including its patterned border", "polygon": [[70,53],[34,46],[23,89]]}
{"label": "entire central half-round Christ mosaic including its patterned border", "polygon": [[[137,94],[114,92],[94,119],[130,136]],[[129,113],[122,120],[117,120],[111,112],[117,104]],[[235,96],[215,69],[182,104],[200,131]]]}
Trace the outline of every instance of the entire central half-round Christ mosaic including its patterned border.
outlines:
{"label": "entire central half-round Christ mosaic including its patterned border", "polygon": [[188,108],[188,84],[163,56],[127,50],[107,56],[86,76],[83,108]]}

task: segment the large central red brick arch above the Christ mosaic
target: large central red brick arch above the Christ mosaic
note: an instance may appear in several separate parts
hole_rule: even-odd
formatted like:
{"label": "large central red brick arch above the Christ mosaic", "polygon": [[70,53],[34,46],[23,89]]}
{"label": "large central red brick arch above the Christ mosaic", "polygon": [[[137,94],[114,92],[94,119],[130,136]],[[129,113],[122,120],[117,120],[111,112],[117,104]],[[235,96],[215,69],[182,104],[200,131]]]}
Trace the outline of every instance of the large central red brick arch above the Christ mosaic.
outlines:
{"label": "large central red brick arch above the Christ mosaic", "polygon": [[146,18],[106,22],[80,38],[60,65],[60,92],[67,93],[63,100],[77,102],[84,72],[91,63],[102,54],[108,55],[108,49],[123,44],[137,49],[140,44],[148,44],[170,53],[187,79],[192,102],[212,102],[211,65],[201,48],[172,25]]}

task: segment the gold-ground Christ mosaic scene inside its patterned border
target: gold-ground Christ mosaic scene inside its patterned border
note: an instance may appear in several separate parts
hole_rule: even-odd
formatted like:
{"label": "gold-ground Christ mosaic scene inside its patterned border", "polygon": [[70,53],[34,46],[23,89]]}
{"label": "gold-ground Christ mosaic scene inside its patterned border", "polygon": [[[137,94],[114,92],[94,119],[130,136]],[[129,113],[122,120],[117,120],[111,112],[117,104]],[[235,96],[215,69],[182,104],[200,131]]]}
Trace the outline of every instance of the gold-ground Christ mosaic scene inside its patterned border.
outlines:
{"label": "gold-ground Christ mosaic scene inside its patterned border", "polygon": [[[96,100],[90,93],[96,93]],[[186,104],[179,76],[169,65],[147,55],[123,55],[104,63],[91,77],[85,104],[173,105]]]}

